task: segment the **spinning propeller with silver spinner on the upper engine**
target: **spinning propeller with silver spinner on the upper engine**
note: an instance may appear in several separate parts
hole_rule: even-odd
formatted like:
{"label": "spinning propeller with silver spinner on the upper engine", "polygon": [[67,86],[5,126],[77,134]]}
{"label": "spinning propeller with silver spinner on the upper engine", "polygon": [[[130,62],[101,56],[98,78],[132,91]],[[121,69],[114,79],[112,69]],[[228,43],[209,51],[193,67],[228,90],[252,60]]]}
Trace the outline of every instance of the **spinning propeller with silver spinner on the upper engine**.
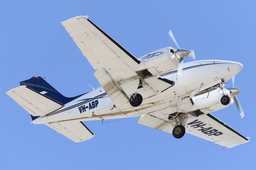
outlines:
{"label": "spinning propeller with silver spinner on the upper engine", "polygon": [[193,60],[196,59],[195,52],[194,52],[194,50],[181,49],[174,37],[174,34],[172,33],[172,30],[169,31],[169,35],[172,38],[172,41],[178,47],[178,49],[175,51],[175,55],[176,55],[177,59],[180,61],[178,63],[178,75],[180,75],[180,77],[182,77],[181,72],[182,72],[183,59],[186,57],[192,58]]}

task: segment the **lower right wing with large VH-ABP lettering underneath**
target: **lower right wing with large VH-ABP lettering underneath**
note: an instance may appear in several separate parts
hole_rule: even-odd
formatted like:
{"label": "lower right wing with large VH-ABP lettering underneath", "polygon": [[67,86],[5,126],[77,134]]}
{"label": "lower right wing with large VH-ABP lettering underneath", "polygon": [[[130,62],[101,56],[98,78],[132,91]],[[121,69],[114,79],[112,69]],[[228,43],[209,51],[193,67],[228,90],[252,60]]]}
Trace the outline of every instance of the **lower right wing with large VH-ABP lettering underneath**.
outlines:
{"label": "lower right wing with large VH-ABP lettering underneath", "polygon": [[[141,116],[137,123],[172,133],[173,127],[171,122],[153,114]],[[249,138],[242,136],[210,113],[200,115],[199,117],[188,114],[185,128],[187,133],[227,148],[232,148],[249,141]]]}

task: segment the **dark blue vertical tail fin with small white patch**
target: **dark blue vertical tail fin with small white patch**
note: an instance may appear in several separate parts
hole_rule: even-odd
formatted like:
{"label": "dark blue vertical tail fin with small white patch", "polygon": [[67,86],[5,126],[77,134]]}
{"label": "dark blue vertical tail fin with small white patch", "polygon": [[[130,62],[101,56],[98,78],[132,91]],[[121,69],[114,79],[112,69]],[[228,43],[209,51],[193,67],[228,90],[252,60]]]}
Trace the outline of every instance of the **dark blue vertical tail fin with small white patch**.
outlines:
{"label": "dark blue vertical tail fin with small white patch", "polygon": [[31,79],[21,81],[20,85],[26,85],[31,89],[37,91],[38,93],[41,93],[47,97],[50,97],[51,99],[54,99],[55,101],[58,101],[63,105],[84,95],[82,94],[76,97],[65,97],[62,94],[60,94],[60,92],[58,92],[56,89],[54,89],[49,83],[47,83],[42,77],[36,77],[36,76],[31,77]]}

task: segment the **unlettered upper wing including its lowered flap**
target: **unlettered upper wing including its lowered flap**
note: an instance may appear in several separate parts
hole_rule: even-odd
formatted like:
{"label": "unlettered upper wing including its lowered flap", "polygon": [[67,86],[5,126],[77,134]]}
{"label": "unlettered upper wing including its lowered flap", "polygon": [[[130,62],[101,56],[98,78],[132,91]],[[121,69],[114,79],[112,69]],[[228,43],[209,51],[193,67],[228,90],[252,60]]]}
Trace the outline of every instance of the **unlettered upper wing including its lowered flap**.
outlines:
{"label": "unlettered upper wing including its lowered flap", "polygon": [[[110,99],[116,106],[127,103],[129,99],[127,95],[138,88],[139,76],[135,71],[140,60],[90,21],[88,16],[70,18],[62,22],[62,25],[92,67],[104,68],[95,75]],[[122,95],[122,100],[116,99],[116,93],[113,94],[113,90],[109,91],[111,83],[117,89],[115,92]]]}

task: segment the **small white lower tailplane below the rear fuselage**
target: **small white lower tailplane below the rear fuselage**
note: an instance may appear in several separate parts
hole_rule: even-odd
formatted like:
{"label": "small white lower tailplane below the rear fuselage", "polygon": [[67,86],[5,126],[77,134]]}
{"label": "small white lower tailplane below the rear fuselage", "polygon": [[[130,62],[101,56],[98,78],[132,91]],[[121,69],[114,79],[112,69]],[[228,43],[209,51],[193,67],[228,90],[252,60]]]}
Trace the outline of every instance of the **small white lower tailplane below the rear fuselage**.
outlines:
{"label": "small white lower tailplane below the rear fuselage", "polygon": [[90,129],[79,121],[64,121],[46,125],[74,142],[83,142],[94,136]]}

